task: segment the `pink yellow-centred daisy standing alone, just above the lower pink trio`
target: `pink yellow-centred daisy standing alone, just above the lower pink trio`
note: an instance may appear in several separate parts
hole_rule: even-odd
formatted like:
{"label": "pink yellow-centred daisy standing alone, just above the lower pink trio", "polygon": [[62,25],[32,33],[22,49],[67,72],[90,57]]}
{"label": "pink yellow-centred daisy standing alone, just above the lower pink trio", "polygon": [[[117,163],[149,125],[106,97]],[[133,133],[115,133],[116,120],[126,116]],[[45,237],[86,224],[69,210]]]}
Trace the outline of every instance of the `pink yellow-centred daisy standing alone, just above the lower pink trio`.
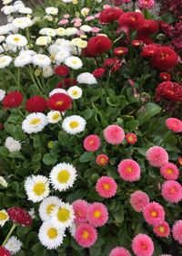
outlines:
{"label": "pink yellow-centred daisy standing alone, just above the lower pink trio", "polygon": [[116,188],[116,181],[110,176],[101,176],[97,179],[96,191],[100,197],[114,197]]}

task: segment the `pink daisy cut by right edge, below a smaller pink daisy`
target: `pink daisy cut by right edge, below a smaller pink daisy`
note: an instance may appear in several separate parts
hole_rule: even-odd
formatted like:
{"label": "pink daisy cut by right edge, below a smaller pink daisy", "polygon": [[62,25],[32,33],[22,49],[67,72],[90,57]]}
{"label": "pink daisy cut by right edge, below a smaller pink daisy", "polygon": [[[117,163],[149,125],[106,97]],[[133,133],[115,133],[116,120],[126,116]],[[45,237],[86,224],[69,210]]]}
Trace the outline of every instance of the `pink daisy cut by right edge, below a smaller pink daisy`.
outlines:
{"label": "pink daisy cut by right edge, below a smaller pink daisy", "polygon": [[171,203],[178,203],[182,198],[182,187],[176,180],[167,180],[162,185],[162,196]]}

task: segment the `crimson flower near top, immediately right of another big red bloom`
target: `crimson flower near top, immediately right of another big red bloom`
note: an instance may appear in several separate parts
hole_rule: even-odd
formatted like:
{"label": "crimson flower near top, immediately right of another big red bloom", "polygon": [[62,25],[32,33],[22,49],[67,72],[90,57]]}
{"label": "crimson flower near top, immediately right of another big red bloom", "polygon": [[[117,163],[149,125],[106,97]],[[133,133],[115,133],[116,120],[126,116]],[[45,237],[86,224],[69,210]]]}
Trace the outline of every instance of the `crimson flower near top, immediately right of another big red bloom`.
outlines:
{"label": "crimson flower near top, immediately right of another big red bloom", "polygon": [[144,23],[145,17],[138,13],[138,12],[130,12],[125,13],[118,19],[118,25],[119,26],[126,26],[133,30],[135,30],[137,27],[142,26]]}

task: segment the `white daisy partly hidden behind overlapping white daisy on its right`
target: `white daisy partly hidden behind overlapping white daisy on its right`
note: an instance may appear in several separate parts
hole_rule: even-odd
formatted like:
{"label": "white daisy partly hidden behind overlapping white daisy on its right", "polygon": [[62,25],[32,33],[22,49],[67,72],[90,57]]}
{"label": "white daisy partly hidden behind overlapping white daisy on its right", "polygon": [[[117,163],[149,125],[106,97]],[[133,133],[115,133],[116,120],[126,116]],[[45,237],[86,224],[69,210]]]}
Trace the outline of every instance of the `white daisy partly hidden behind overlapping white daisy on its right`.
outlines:
{"label": "white daisy partly hidden behind overlapping white daisy on its right", "polygon": [[58,197],[46,197],[38,208],[40,218],[43,221],[50,220],[51,211],[62,202]]}

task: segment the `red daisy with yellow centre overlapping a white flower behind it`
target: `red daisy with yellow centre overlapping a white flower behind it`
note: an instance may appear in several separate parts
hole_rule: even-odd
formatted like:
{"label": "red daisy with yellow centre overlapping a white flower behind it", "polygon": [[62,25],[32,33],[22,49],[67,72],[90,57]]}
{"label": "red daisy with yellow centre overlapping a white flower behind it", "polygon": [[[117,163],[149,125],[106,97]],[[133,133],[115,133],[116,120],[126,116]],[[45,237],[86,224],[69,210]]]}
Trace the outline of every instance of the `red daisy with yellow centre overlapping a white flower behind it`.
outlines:
{"label": "red daisy with yellow centre overlapping a white flower behind it", "polygon": [[55,93],[48,99],[46,105],[52,111],[66,112],[71,103],[72,99],[65,93]]}

